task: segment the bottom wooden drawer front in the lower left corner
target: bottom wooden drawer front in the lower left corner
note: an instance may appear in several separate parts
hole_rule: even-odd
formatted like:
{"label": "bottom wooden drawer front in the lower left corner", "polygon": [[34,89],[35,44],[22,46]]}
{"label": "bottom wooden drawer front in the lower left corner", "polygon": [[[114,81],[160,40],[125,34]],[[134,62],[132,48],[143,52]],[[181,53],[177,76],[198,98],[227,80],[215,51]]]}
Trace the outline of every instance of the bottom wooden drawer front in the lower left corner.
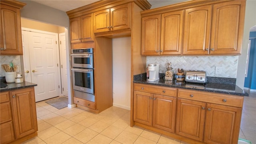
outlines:
{"label": "bottom wooden drawer front in the lower left corner", "polygon": [[6,144],[15,139],[14,128],[12,121],[0,125],[0,140],[1,144]]}

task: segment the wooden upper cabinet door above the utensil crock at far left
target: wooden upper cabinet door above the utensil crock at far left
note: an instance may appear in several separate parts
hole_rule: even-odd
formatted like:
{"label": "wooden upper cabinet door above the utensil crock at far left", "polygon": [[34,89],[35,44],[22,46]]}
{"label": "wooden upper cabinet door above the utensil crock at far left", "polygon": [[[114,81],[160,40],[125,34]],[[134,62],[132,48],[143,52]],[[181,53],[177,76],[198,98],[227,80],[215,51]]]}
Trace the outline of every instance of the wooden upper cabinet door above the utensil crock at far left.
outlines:
{"label": "wooden upper cabinet door above the utensil crock at far left", "polygon": [[0,54],[22,55],[20,10],[1,4]]}

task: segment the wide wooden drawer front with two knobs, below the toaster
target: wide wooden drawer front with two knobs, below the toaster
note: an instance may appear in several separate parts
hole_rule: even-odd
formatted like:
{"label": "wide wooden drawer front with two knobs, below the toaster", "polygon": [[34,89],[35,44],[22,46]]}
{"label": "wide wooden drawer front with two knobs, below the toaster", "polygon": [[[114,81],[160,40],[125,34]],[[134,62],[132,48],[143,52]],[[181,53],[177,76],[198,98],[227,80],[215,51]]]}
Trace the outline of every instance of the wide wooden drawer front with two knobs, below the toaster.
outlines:
{"label": "wide wooden drawer front with two knobs, below the toaster", "polygon": [[216,94],[212,92],[199,92],[196,90],[178,90],[178,98],[189,100],[197,100],[201,102],[210,102],[214,104],[222,104],[226,106],[243,107],[243,96],[232,96],[227,94]]}

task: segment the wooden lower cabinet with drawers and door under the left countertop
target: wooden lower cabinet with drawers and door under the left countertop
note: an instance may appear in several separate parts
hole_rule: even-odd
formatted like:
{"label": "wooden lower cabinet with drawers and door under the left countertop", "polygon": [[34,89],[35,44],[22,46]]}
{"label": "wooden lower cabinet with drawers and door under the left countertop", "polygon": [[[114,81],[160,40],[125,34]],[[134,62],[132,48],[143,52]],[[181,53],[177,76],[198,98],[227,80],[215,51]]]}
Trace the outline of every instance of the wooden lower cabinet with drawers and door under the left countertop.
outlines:
{"label": "wooden lower cabinet with drawers and door under the left countertop", "polygon": [[20,143],[37,135],[33,88],[1,92],[0,144]]}

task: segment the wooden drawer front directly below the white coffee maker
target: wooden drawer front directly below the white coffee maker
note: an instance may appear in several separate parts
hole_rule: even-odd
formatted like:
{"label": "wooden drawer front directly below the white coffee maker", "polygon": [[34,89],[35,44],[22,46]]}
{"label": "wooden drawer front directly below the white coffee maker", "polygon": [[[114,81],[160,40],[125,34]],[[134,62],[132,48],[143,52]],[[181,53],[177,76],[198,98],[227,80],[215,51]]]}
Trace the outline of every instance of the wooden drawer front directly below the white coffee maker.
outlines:
{"label": "wooden drawer front directly below the white coffee maker", "polygon": [[177,96],[177,88],[168,88],[164,86],[152,86],[148,84],[134,84],[134,90],[141,92],[150,92],[166,96]]}

